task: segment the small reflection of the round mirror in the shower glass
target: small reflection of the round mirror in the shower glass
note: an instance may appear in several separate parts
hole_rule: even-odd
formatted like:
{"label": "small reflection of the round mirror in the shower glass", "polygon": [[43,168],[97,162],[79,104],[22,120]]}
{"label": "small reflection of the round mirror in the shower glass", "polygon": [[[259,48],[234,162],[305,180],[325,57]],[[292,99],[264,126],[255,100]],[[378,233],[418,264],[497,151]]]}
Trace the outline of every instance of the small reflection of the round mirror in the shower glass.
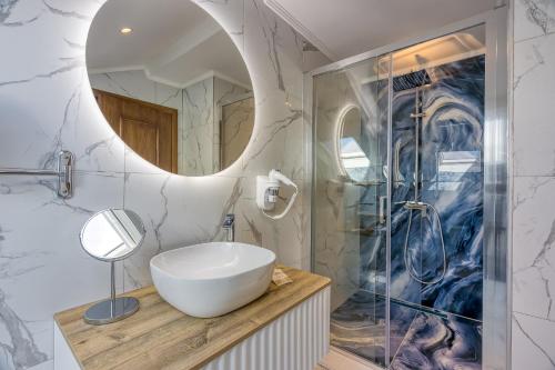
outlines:
{"label": "small reflection of the round mirror in the shower glass", "polygon": [[353,181],[366,179],[370,159],[364,151],[364,127],[361,109],[356,106],[345,108],[340,114],[337,139],[339,166],[343,176]]}

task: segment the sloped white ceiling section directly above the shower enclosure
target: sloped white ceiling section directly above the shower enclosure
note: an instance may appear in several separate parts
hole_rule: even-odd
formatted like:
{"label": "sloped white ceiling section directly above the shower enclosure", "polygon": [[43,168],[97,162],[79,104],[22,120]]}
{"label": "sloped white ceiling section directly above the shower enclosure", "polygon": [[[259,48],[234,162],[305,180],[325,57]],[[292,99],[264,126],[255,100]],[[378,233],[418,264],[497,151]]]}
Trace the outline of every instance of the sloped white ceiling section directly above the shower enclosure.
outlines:
{"label": "sloped white ceiling section directly above the shower enclosure", "polygon": [[265,0],[332,60],[491,10],[500,0]]}

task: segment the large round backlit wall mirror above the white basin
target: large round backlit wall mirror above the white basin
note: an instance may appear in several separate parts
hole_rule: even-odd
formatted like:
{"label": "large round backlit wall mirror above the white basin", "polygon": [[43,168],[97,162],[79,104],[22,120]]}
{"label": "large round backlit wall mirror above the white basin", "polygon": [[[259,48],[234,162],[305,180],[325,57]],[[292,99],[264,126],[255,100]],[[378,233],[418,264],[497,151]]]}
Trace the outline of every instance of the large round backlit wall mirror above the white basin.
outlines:
{"label": "large round backlit wall mirror above the white basin", "polygon": [[89,30],[87,68],[111,128],[168,172],[219,172],[250,141],[246,66],[230,36],[192,1],[105,1]]}

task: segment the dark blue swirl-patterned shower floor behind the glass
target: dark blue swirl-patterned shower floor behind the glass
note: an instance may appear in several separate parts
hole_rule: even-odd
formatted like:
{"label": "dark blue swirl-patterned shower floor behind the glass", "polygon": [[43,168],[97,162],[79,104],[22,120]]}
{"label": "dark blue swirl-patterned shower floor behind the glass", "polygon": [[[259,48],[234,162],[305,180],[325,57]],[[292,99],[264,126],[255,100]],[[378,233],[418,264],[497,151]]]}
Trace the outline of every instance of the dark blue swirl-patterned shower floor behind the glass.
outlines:
{"label": "dark blue swirl-patterned shower floor behind the glass", "polygon": [[[351,296],[332,313],[332,346],[385,367],[385,302],[365,290]],[[394,300],[390,312],[391,369],[481,369],[481,322]]]}

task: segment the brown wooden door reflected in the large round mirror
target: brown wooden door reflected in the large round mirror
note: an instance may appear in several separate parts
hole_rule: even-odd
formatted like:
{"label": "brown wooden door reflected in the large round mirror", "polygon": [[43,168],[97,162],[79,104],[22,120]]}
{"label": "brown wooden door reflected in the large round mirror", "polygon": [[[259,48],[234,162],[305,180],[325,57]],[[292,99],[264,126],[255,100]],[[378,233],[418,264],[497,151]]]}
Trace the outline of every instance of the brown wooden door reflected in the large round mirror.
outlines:
{"label": "brown wooden door reflected in the large round mirror", "polygon": [[112,129],[135,153],[178,173],[178,110],[93,90]]}

